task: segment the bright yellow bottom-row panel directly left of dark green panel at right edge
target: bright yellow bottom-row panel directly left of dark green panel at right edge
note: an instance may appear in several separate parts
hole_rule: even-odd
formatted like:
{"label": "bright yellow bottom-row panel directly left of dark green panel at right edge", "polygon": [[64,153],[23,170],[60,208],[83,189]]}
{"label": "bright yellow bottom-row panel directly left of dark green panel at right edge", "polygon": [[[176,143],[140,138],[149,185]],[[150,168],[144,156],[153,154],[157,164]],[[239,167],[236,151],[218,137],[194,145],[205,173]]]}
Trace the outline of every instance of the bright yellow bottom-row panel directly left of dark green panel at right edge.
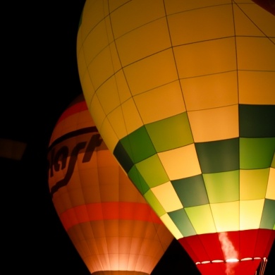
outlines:
{"label": "bright yellow bottom-row panel directly left of dark green panel at right edge", "polygon": [[263,200],[240,201],[240,230],[257,229],[262,218]]}

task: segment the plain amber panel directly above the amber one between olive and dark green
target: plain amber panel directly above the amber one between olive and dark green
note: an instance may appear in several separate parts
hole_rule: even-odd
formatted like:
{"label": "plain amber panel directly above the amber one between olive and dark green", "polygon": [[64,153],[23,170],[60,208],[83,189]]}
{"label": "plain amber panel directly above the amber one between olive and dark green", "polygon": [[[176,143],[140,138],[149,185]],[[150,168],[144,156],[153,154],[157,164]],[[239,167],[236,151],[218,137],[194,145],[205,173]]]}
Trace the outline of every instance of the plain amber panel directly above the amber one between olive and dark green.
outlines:
{"label": "plain amber panel directly above the amber one between olive and dark green", "polygon": [[236,71],[182,79],[181,87],[188,111],[238,104]]}

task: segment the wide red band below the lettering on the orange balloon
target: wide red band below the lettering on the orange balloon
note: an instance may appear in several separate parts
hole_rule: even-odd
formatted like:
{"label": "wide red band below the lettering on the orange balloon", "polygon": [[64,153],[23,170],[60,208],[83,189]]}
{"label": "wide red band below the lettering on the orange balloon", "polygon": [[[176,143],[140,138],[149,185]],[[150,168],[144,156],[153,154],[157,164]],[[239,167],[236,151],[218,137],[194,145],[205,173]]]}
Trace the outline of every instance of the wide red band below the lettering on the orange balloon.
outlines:
{"label": "wide red band below the lettering on the orange balloon", "polygon": [[163,224],[148,204],[137,202],[83,204],[66,210],[60,215],[60,219],[66,231],[87,221],[111,219],[148,221],[155,224]]}

